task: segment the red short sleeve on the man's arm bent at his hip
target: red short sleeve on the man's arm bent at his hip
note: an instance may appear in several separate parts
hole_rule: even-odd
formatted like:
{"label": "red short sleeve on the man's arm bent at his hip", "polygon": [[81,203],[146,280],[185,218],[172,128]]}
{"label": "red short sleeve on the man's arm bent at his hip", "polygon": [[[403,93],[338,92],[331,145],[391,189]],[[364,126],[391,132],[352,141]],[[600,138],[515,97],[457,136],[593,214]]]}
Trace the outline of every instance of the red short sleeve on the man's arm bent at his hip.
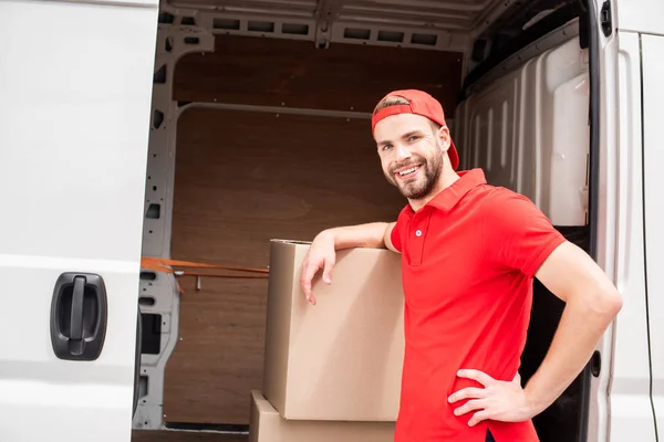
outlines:
{"label": "red short sleeve on the man's arm bent at his hip", "polygon": [[483,217],[483,243],[489,262],[530,277],[566,241],[530,199],[504,188],[485,200]]}

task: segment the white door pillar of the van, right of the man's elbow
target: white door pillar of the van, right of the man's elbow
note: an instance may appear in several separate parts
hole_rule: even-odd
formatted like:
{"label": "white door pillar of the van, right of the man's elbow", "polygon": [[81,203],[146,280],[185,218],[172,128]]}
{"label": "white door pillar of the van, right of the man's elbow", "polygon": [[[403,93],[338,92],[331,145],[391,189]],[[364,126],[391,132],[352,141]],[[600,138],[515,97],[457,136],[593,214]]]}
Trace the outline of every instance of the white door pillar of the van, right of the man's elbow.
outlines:
{"label": "white door pillar of the van, right of the man's elbow", "polygon": [[[609,441],[655,441],[650,401],[650,360],[645,302],[639,36],[621,33],[618,54],[618,157],[602,193],[616,196],[615,283],[623,308],[613,330]],[[610,72],[610,71],[606,71]],[[612,150],[609,151],[612,154]],[[609,238],[609,236],[606,236]],[[603,241],[608,239],[602,238]],[[603,365],[605,369],[606,367]]]}

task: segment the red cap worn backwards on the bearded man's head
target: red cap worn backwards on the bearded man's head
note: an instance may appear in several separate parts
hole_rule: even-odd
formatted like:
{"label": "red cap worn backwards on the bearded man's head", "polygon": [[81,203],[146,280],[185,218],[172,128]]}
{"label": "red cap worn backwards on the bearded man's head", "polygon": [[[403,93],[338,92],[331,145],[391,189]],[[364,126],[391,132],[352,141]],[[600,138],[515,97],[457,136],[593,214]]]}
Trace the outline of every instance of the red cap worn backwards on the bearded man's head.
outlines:
{"label": "red cap worn backwards on the bearded man's head", "polygon": [[[447,126],[445,123],[445,113],[443,112],[443,106],[436,98],[427,94],[423,91],[417,90],[405,90],[405,91],[394,91],[390,94],[385,95],[381,102],[391,96],[398,96],[407,99],[411,104],[402,104],[395,106],[387,106],[374,113],[371,119],[371,131],[373,134],[376,124],[391,115],[397,114],[415,114],[422,115],[423,117],[427,117],[440,126]],[[380,103],[380,102],[378,102]],[[456,170],[459,166],[459,155],[456,150],[456,146],[454,141],[450,139],[449,149],[447,150],[447,155],[449,155],[449,160],[452,161],[452,168]]]}

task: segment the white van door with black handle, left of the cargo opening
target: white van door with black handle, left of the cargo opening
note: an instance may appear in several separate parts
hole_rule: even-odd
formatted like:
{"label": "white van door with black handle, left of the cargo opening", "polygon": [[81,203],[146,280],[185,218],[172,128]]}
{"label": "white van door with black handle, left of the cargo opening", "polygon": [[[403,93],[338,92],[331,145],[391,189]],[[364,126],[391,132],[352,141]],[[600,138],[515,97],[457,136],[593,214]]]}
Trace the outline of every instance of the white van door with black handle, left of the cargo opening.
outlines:
{"label": "white van door with black handle, left of the cargo opening", "polygon": [[0,440],[128,442],[153,0],[0,0]]}

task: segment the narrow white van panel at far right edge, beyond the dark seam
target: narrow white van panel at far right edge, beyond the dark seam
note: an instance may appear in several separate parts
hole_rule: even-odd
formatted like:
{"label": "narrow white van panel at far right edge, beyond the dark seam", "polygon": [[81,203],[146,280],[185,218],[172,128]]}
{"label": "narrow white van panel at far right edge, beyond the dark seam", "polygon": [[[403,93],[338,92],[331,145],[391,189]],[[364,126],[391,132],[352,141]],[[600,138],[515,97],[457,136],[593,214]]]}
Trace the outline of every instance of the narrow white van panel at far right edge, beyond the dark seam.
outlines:
{"label": "narrow white van panel at far right edge, beyond the dark seam", "polygon": [[653,401],[664,431],[664,36],[643,35],[644,201]]}

